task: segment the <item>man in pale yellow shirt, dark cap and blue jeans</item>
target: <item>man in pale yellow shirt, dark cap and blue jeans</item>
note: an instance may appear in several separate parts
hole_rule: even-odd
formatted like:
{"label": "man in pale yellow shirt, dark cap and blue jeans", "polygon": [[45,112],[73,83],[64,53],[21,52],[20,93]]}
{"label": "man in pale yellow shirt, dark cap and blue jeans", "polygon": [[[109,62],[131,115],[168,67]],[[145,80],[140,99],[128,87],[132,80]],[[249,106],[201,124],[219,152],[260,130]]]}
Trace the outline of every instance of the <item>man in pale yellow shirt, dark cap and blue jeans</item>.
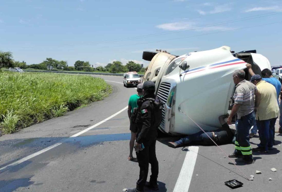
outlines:
{"label": "man in pale yellow shirt, dark cap and blue jeans", "polygon": [[274,144],[274,125],[279,116],[279,106],[275,87],[262,80],[260,75],[253,75],[250,80],[260,93],[257,102],[257,112],[255,120],[259,130],[260,144],[253,151],[268,152],[273,149]]}

